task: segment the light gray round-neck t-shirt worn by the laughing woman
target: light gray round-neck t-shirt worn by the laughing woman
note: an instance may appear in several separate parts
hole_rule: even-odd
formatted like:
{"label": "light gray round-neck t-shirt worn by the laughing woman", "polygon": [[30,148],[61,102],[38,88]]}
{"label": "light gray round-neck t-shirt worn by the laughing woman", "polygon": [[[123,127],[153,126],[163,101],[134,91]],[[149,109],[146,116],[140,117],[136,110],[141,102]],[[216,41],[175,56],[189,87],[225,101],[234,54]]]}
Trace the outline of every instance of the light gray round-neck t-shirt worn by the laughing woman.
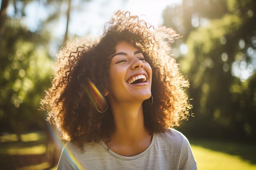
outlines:
{"label": "light gray round-neck t-shirt worn by the laughing woman", "polygon": [[132,157],[108,150],[103,141],[86,143],[81,150],[69,142],[57,170],[196,170],[188,139],[177,130],[153,134],[150,146]]}

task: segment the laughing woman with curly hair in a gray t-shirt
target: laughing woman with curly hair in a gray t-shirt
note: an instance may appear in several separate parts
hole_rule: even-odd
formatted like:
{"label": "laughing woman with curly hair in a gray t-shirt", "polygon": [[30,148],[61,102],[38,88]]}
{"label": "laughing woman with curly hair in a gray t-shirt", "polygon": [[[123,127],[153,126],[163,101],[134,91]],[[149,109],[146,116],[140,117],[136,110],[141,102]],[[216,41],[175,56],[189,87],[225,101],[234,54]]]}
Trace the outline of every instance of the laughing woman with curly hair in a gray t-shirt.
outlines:
{"label": "laughing woman with curly hair in a gray t-shirt", "polygon": [[59,170],[197,169],[186,137],[168,128],[191,109],[184,93],[189,83],[169,46],[178,37],[117,11],[101,38],[61,49],[41,101],[70,141]]}

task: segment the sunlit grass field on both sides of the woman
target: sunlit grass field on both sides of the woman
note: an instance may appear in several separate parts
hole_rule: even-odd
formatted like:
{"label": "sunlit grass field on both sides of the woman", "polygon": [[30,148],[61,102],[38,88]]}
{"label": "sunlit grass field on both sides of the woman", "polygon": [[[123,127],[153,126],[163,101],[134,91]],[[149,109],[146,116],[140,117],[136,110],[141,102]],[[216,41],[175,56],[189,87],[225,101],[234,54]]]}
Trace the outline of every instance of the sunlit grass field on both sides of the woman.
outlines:
{"label": "sunlit grass field on both sides of the woman", "polygon": [[[55,170],[47,161],[42,132],[0,136],[0,165],[8,170]],[[256,145],[234,141],[190,140],[198,170],[256,170]]]}

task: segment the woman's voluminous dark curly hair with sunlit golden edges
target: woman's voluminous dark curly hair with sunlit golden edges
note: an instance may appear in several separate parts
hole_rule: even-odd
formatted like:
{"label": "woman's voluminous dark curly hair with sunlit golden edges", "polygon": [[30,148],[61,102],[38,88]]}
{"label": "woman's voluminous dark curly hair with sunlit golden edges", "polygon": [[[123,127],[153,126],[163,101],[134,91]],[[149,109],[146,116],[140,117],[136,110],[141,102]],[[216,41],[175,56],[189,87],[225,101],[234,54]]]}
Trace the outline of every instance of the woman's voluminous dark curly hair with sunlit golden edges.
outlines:
{"label": "woman's voluminous dark curly hair with sunlit golden edges", "polygon": [[172,28],[154,28],[130,12],[117,11],[105,23],[100,38],[67,42],[57,54],[52,86],[40,102],[41,108],[48,111],[48,121],[57,125],[63,139],[80,146],[111,135],[115,130],[111,108],[99,113],[84,85],[90,79],[101,93],[107,90],[111,54],[118,42],[126,41],[143,52],[153,71],[154,102],[143,102],[146,128],[152,134],[179,126],[182,119],[188,119],[192,106],[184,92],[189,82],[171,57],[170,44],[177,38]]}

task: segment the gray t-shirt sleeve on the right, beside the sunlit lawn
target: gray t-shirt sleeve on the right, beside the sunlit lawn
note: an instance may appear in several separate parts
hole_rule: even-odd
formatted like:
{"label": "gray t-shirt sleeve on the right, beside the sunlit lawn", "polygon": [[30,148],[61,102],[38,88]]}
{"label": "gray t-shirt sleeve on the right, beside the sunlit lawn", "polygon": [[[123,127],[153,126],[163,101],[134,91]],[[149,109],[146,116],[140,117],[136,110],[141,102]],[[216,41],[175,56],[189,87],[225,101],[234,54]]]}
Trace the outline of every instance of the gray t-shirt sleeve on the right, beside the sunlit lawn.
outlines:
{"label": "gray t-shirt sleeve on the right, beside the sunlit lawn", "polygon": [[189,141],[184,135],[182,136],[183,140],[179,170],[197,170],[196,161],[193,156]]}

